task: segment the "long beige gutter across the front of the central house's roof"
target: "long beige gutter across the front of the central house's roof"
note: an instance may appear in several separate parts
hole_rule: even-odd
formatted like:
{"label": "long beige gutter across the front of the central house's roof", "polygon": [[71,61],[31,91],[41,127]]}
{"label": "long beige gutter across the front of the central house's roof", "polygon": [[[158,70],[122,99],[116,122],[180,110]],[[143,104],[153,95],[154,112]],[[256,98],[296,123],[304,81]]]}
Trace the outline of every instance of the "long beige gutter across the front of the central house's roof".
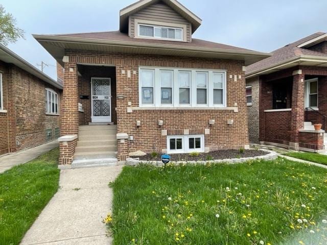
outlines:
{"label": "long beige gutter across the front of the central house's roof", "polygon": [[100,45],[116,45],[124,47],[142,47],[142,48],[155,48],[170,50],[181,50],[189,52],[206,52],[216,54],[232,54],[232,55],[249,55],[256,57],[270,57],[270,53],[260,53],[255,51],[236,51],[227,50],[222,48],[207,48],[207,47],[194,47],[194,46],[182,46],[172,44],[157,44],[157,43],[139,43],[131,41],[115,41],[115,40],[104,40],[96,38],[78,38],[78,37],[58,37],[58,36],[46,36],[46,35],[33,35],[38,41],[55,41],[55,42],[71,42],[81,44],[100,44]]}

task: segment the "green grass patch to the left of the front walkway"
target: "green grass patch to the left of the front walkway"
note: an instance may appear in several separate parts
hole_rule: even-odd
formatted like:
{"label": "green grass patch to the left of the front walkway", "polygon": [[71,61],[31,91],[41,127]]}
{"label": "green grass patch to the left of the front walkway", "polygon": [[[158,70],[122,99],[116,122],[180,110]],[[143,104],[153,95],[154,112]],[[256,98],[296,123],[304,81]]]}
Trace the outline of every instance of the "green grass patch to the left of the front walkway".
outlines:
{"label": "green grass patch to the left of the front walkway", "polygon": [[16,245],[57,192],[59,150],[0,174],[0,244]]}

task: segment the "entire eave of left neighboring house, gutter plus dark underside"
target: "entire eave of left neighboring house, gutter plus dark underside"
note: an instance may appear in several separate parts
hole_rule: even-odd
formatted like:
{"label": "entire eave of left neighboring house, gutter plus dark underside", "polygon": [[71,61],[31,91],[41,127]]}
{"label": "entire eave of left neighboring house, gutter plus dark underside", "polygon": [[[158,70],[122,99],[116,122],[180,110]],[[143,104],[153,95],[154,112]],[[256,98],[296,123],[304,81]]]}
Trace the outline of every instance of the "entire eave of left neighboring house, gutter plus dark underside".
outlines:
{"label": "entire eave of left neighboring house, gutter plus dark underside", "polygon": [[9,50],[8,47],[4,46],[3,44],[0,44],[0,60],[6,62],[6,63],[12,63],[19,68],[29,72],[29,74],[34,75],[35,77],[41,79],[42,81],[51,84],[52,86],[62,89],[63,86],[56,80],[52,79],[48,75],[44,74],[42,71],[40,71],[38,68],[36,68],[31,63],[27,62],[11,50]]}

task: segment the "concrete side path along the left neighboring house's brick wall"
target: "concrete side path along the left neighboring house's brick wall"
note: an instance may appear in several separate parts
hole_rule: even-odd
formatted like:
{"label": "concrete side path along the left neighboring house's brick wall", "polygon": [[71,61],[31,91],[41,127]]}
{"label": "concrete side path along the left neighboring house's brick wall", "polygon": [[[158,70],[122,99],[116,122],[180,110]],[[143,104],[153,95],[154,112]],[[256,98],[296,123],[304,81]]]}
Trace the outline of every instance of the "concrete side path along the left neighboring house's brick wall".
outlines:
{"label": "concrete side path along the left neighboring house's brick wall", "polygon": [[12,168],[13,166],[31,161],[43,153],[49,152],[50,150],[56,148],[57,146],[59,146],[59,142],[55,140],[28,150],[22,150],[19,152],[0,156],[0,174],[4,173],[4,171]]}

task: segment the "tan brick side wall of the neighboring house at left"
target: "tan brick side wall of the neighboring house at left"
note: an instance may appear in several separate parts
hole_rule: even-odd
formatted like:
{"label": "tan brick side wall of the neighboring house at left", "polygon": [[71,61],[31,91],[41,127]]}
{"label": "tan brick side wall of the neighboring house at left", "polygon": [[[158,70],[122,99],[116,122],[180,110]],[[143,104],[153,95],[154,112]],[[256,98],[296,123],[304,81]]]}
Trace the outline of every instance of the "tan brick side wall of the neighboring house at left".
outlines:
{"label": "tan brick side wall of the neighboring house at left", "polygon": [[[46,130],[57,138],[60,116],[45,114],[45,88],[61,91],[19,67],[0,62],[3,71],[4,108],[0,113],[0,154],[32,148],[47,141]],[[60,106],[60,102],[59,102]]]}

